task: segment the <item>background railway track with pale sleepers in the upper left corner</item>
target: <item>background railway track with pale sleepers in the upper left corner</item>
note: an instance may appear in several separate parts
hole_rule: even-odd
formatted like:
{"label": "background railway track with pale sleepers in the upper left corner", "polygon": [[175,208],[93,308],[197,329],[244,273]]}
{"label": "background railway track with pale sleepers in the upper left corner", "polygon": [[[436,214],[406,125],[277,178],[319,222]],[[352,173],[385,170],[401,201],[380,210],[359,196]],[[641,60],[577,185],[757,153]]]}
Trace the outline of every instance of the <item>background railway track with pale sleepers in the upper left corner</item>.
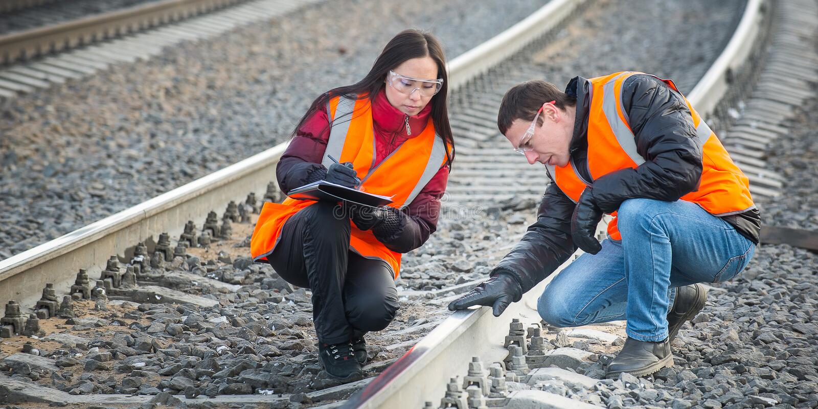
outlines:
{"label": "background railway track with pale sleepers in the upper left corner", "polygon": [[[158,0],[0,34],[0,102],[54,83],[83,79],[112,64],[147,59],[159,55],[164,47],[210,38],[316,1]],[[7,7],[45,3],[29,0]],[[191,18],[194,16],[198,17]]]}

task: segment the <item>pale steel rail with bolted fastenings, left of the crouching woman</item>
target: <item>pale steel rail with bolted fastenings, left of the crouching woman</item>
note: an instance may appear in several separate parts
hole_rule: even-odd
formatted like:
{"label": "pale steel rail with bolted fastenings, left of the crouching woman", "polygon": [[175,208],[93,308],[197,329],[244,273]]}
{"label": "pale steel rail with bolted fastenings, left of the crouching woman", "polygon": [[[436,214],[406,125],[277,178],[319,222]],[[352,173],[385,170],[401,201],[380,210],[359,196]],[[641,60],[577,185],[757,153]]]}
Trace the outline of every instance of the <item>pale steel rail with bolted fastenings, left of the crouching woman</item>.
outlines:
{"label": "pale steel rail with bolted fastenings, left of the crouching woman", "polygon": [[99,276],[112,254],[124,254],[137,242],[167,231],[178,236],[188,220],[201,226],[205,215],[223,209],[231,200],[242,200],[250,191],[263,197],[267,183],[276,174],[278,158],[286,144],[250,156],[227,168],[210,173],[115,213],[65,236],[0,260],[0,305],[16,299],[34,305],[38,289],[54,283],[57,292],[67,293],[79,268]]}

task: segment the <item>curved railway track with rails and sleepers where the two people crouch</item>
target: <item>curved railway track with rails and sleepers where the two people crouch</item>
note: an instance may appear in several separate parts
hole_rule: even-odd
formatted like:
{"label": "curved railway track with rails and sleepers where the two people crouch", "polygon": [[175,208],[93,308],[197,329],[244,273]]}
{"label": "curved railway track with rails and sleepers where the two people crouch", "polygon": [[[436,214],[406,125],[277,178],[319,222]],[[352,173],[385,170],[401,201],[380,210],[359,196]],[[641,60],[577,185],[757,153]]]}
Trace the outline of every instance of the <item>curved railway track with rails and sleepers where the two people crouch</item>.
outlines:
{"label": "curved railway track with rails and sleepers where the two people crouch", "polygon": [[[493,120],[496,118],[502,93],[518,82],[519,78],[537,76],[534,70],[527,70],[520,63],[526,61],[531,50],[545,47],[556,29],[578,13],[579,8],[586,3],[583,0],[553,0],[527,20],[451,62],[450,79],[452,88],[456,90],[452,96],[452,101],[456,101],[452,107],[452,125],[458,137],[460,155],[460,165],[452,173],[448,189],[452,205],[474,205],[495,200],[494,204],[501,209],[506,204],[513,208],[515,200],[534,200],[540,195],[546,173],[543,169],[522,163],[519,156],[510,154],[509,150],[497,148],[502,137],[497,133]],[[771,16],[773,6],[777,6],[775,21]],[[781,97],[780,87],[786,87],[787,91],[798,91],[805,83],[816,80],[815,65],[807,65],[799,60],[818,61],[815,50],[804,43],[804,38],[814,34],[816,20],[808,13],[799,15],[799,7],[814,8],[815,4],[808,1],[777,4],[749,0],[730,43],[688,95],[708,122],[712,120],[714,124],[720,125],[718,128],[721,132],[717,133],[734,160],[751,179],[754,196],[779,195],[782,178],[765,169],[763,147],[775,138],[776,133],[785,132],[780,127],[780,122],[791,114],[793,106],[811,96],[808,92],[792,92],[788,94],[789,97],[784,98]],[[786,29],[770,30],[771,24],[774,29]],[[771,43],[769,56],[762,58],[766,56],[766,43]],[[504,60],[508,61],[501,62]],[[515,71],[511,68],[515,65],[522,68]],[[784,67],[794,73],[793,80],[789,83],[774,84],[771,78],[766,78]],[[755,85],[736,87],[737,83]],[[465,95],[480,96],[479,100],[483,103],[469,101],[463,97]],[[746,104],[739,104],[739,101],[751,95]],[[744,112],[738,112],[734,106],[744,106]],[[764,113],[759,114],[761,111]],[[724,132],[723,129],[728,126],[729,130]],[[119,278],[103,273],[112,268],[108,261],[111,254],[118,255],[122,261],[131,261],[134,246],[141,241],[148,242],[149,254],[155,254],[151,240],[160,236],[160,233],[179,236],[185,232],[189,220],[201,225],[205,214],[210,210],[224,209],[231,201],[243,202],[248,192],[253,192],[256,197],[276,196],[266,193],[270,182],[268,177],[274,174],[277,160],[284,149],[285,144],[275,146],[153,200],[0,261],[0,303],[5,305],[15,299],[24,307],[34,306],[40,289],[46,283],[54,283],[56,294],[67,294],[80,268],[87,269],[89,276],[108,276],[110,282],[107,284],[115,294],[115,281]],[[514,174],[521,183],[514,187],[501,186],[498,180],[500,178],[486,178],[489,170],[495,172],[495,176]],[[474,194],[474,191],[481,189],[499,189],[505,196]],[[247,200],[248,204],[250,202],[252,200]],[[249,207],[242,206],[241,209]],[[233,213],[231,218],[234,221],[243,217],[237,211],[238,209],[228,207],[228,213]],[[212,229],[211,232],[216,233]],[[184,253],[184,249],[181,252]],[[574,258],[577,256],[575,254]],[[164,257],[168,261],[173,258],[171,254]],[[119,269],[118,266],[115,268]],[[218,286],[216,283],[211,285]],[[453,294],[469,290],[473,285],[474,282],[459,283],[428,294],[440,297],[436,305],[442,311]],[[504,317],[519,317],[521,321],[515,324],[519,328],[537,324],[539,317],[536,312],[536,297],[542,292],[544,285],[546,282],[540,283],[537,289],[526,294],[524,300],[512,304],[508,310],[510,312],[506,312]],[[223,288],[227,291],[236,290],[234,287]],[[411,291],[404,294],[409,293]],[[409,295],[425,297],[423,294]],[[178,301],[183,302],[185,299],[182,297]],[[374,371],[382,371],[378,377],[353,385],[362,389],[346,402],[348,407],[423,407],[424,402],[436,402],[443,398],[446,392],[444,385],[450,378],[465,374],[466,362],[471,357],[479,357],[483,362],[498,362],[509,355],[508,349],[503,345],[509,323],[505,319],[492,317],[488,308],[456,312],[442,323],[429,322],[424,325],[435,327],[416,344],[412,340],[411,344],[414,346],[391,366],[371,367]],[[529,337],[532,334],[533,331],[529,332]],[[525,345],[525,337],[521,339],[520,335],[522,334],[518,329],[512,334],[510,343],[506,344]],[[477,376],[488,380],[487,375],[480,372]],[[11,382],[12,387],[17,387],[11,380],[5,381]],[[447,397],[456,402],[466,402],[465,391],[459,389],[458,384],[450,386]],[[18,386],[24,388],[25,385]],[[425,393],[418,393],[421,390]],[[348,391],[345,393],[347,394],[333,395],[335,398],[313,393],[311,398],[333,400],[344,398]],[[60,398],[65,399],[65,402],[105,402],[106,398],[121,403],[146,402],[145,398],[139,397],[128,400],[112,395],[73,398],[67,393],[65,395]],[[101,401],[89,400],[94,399],[94,396]],[[271,397],[265,401],[265,398],[258,395],[222,395],[212,402],[272,402],[275,399]],[[194,401],[196,399],[188,400]],[[334,405],[339,404],[341,403]],[[555,405],[559,404],[560,401],[555,400]]]}

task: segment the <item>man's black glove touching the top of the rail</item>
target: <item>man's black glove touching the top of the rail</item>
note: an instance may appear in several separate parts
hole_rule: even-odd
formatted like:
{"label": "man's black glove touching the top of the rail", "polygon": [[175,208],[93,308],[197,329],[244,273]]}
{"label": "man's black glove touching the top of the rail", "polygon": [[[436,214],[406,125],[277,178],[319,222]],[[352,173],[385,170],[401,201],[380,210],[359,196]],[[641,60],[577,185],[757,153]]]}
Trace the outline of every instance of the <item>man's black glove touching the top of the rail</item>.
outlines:
{"label": "man's black glove touching the top of the rail", "polygon": [[449,303],[449,309],[455,311],[473,305],[484,305],[494,309],[494,317],[500,317],[510,303],[516,303],[521,298],[523,289],[520,288],[517,279],[507,272],[498,272],[496,276],[483,281],[473,290]]}

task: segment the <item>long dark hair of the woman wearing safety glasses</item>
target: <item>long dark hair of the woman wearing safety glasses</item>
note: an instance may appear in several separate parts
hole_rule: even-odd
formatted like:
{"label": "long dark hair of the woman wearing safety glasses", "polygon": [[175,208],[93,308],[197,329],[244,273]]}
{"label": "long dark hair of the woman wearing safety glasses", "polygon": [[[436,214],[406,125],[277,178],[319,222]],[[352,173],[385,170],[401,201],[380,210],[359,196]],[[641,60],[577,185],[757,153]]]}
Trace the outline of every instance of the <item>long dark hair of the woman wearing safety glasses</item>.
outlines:
{"label": "long dark hair of the woman wearing safety glasses", "polygon": [[449,149],[446,151],[446,164],[451,169],[452,162],[455,157],[455,142],[452,136],[452,127],[449,125],[449,115],[447,110],[447,98],[449,90],[449,79],[446,72],[446,56],[443,55],[443,47],[440,46],[437,38],[434,35],[418,31],[416,29],[407,29],[398,33],[395,37],[389,40],[389,43],[384,47],[384,51],[380,52],[380,56],[375,59],[375,64],[372,65],[369,74],[366,74],[362,80],[352,85],[339,87],[324,92],[321,97],[317,97],[312,101],[312,105],[307,110],[307,113],[301,117],[299,124],[295,126],[290,137],[294,137],[299,128],[312,116],[316,110],[323,109],[330,99],[338,96],[347,98],[359,99],[369,98],[370,101],[375,101],[375,97],[386,84],[386,74],[389,70],[393,70],[398,65],[403,64],[404,61],[412,58],[420,58],[424,56],[432,57],[434,63],[438,65],[438,78],[443,79],[443,87],[440,91],[432,97],[429,104],[432,104],[431,117],[434,122],[434,131],[440,137],[443,137],[443,142]]}

